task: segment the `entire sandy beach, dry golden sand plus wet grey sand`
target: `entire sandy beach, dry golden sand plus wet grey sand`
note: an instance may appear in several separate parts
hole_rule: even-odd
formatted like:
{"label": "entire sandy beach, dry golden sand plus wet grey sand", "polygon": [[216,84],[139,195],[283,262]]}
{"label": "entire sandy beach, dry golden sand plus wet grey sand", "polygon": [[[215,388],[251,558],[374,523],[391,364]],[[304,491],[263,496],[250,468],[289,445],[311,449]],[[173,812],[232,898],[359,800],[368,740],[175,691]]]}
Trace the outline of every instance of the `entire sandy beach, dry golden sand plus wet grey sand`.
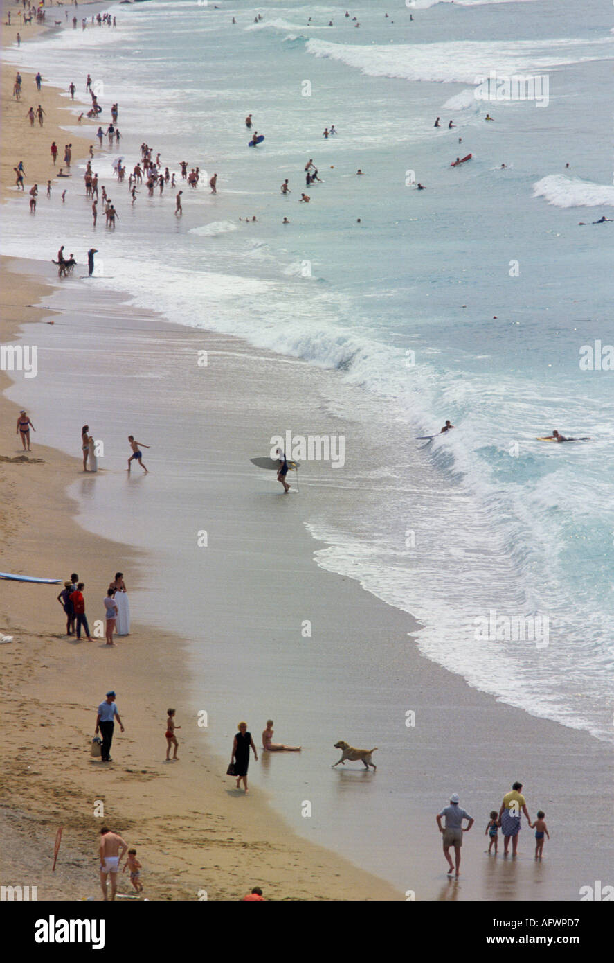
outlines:
{"label": "entire sandy beach, dry golden sand plus wet grey sand", "polygon": [[[3,42],[12,40],[5,31]],[[22,73],[27,88],[33,78]],[[43,86],[47,116],[31,131],[28,95],[12,99],[12,66],[3,66],[2,89],[4,197],[13,196],[6,188],[15,159],[23,160],[27,217],[29,186],[52,176],[49,144],[65,142],[67,105]],[[75,159],[87,155],[87,137],[72,143]],[[100,898],[102,802],[104,821],[137,848],[144,895],[156,900],[234,900],[256,884],[274,900],[395,901],[408,891],[422,900],[574,900],[582,885],[606,879],[612,849],[598,827],[611,772],[602,744],[471,688],[420,654],[420,625],[409,612],[317,564],[314,553],[326,545],[308,521],[331,499],[341,517],[354,500],[368,514],[381,497],[371,466],[383,463],[384,446],[361,433],[358,389],[346,391],[354,419],[343,418],[327,404],[334,373],[171,325],[104,288],[84,291],[77,277],[57,283],[48,252],[35,253],[2,259],[0,343],[36,344],[39,369],[32,379],[0,372],[3,567],[62,580],[77,571],[90,627],[121,570],[134,621],[115,649],[99,637],[77,643],[63,632],[62,586],[0,581],[0,633],[13,636],[0,646],[10,720],[0,776],[3,878],[38,885],[39,899]],[[193,362],[203,348],[206,380]],[[297,429],[317,425],[354,442],[339,472],[305,466],[300,494],[286,503],[273,477],[249,464],[267,454],[263,439],[282,405]],[[37,428],[25,456],[14,427],[22,407]],[[82,474],[78,457],[86,421],[107,453],[95,476]],[[125,436],[135,423],[152,445],[151,475],[135,468],[127,482]],[[418,489],[420,471],[416,461],[403,483]],[[195,535],[205,529],[209,546],[196,561]],[[315,627],[311,650],[298,628],[305,619]],[[347,670],[354,660],[358,684]],[[402,702],[392,681],[399,677],[408,680]],[[115,730],[115,762],[103,770],[89,743],[109,688],[126,732]],[[205,728],[197,722],[203,705]],[[167,706],[177,707],[182,726],[177,764],[164,762]],[[405,723],[408,711],[415,728]],[[282,716],[276,738],[301,742],[303,752],[252,761],[245,798],[224,775],[223,746],[229,752],[234,725],[248,717],[260,753],[269,713]],[[333,743],[355,731],[379,746],[378,771],[365,779],[361,770],[330,769]],[[393,858],[377,834],[399,774],[404,808]],[[531,817],[540,807],[549,814],[556,848],[543,863],[531,858],[528,829],[518,861],[484,855],[488,813],[517,778]],[[460,883],[447,878],[435,825],[452,792],[475,818]],[[314,802],[313,829],[299,818],[305,800]],[[344,858],[351,847],[372,872]]]}

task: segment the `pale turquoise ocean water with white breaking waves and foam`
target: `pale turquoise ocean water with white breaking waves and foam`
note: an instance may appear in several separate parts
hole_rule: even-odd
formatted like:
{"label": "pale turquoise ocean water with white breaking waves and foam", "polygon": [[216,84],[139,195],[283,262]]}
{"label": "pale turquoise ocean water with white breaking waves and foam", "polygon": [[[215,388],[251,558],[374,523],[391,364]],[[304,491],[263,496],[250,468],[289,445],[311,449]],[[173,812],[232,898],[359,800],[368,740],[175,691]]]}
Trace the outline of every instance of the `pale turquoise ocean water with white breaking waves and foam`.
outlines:
{"label": "pale turquoise ocean water with white breaking waves and foam", "polygon": [[[348,8],[356,28],[342,6],[269,2],[257,24],[247,3],[220,6],[121,5],[115,30],[21,49],[84,96],[90,72],[103,128],[118,101],[121,147],[96,150],[94,169],[119,221],[91,230],[82,165],[64,206],[59,187],[39,198],[36,235],[15,197],[3,253],[31,255],[36,237],[83,261],[93,244],[102,276],[83,283],[335,370],[328,410],[351,414],[335,383],[361,392],[387,452],[373,467],[402,481],[422,465],[427,482],[320,507],[318,564],[416,615],[422,653],[473,687],[611,742],[614,223],[592,224],[614,211],[610,9],[370,0]],[[490,71],[548,78],[548,103],[476,99]],[[80,128],[66,108],[68,140]],[[131,169],[142,141],[171,170],[217,172],[218,194],[184,183],[181,220],[169,189],[132,207],[111,165]],[[310,158],[322,183],[305,189]],[[602,363],[580,364],[591,351]],[[448,418],[453,432],[416,440]],[[536,440],[552,429],[591,441]],[[499,636],[480,634],[492,613]],[[548,638],[506,639],[522,616]]]}

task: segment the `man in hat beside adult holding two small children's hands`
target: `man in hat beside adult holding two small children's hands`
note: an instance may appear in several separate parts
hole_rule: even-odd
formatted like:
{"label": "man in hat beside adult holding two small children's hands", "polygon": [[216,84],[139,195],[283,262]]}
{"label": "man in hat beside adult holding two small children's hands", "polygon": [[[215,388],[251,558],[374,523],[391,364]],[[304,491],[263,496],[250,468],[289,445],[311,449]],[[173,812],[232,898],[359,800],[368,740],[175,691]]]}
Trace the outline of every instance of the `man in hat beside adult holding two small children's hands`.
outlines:
{"label": "man in hat beside adult holding two small children's hands", "polygon": [[[463,833],[469,832],[473,826],[473,816],[459,805],[460,799],[456,793],[449,798],[449,805],[437,814],[437,825],[443,834],[444,856],[448,862],[448,876],[454,874],[456,878],[460,875],[461,847],[463,846]],[[543,810],[537,813],[535,822],[531,822],[526,808],[526,800],[523,795],[523,784],[515,782],[509,793],[503,796],[503,801],[499,813],[494,809],[490,814],[490,819],[486,825],[485,835],[490,838],[488,854],[494,851],[497,855],[499,848],[499,828],[503,836],[503,855],[509,854],[510,841],[512,844],[512,856],[518,853],[518,834],[522,828],[521,813],[524,813],[526,821],[531,829],[535,830],[535,859],[541,859],[544,850],[545,837],[550,839],[548,826],[546,825],[546,814]],[[446,820],[446,825],[442,825],[442,820]],[[467,825],[463,822],[467,820]],[[450,848],[454,849],[455,860],[452,862]]]}

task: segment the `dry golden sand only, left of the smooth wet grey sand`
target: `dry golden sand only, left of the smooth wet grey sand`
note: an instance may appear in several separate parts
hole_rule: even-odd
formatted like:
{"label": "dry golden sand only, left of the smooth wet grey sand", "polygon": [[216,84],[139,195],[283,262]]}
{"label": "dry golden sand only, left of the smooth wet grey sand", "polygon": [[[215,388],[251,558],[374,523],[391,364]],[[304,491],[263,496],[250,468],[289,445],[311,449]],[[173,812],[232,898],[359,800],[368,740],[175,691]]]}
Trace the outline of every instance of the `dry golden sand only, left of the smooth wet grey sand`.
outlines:
{"label": "dry golden sand only, left of the smooth wet grey sand", "polygon": [[[26,35],[25,29],[30,33]],[[38,30],[34,24],[25,29],[21,30],[22,41]],[[12,39],[5,28],[3,42]],[[34,87],[33,75],[25,71],[22,75],[23,89],[29,83]],[[58,123],[65,122],[65,103],[58,91],[43,86],[39,102],[47,116],[41,131],[38,126],[31,131],[25,119],[27,107],[22,107],[28,96],[22,94],[19,103],[12,100],[13,68],[7,65],[3,65],[2,87],[2,182],[4,186],[12,183],[13,159],[18,155],[28,172],[27,195],[32,183],[38,180],[40,187],[52,176],[48,148],[52,140],[62,142]],[[87,153],[90,142],[85,138],[72,143],[73,157]],[[54,190],[60,183],[55,182]],[[2,273],[0,341],[7,344],[21,323],[50,320],[48,312],[27,305],[37,303],[53,289],[23,273],[10,273],[6,263]],[[6,388],[9,379],[4,372],[1,377]],[[4,397],[0,406],[0,471],[7,493],[2,538],[11,570],[73,571],[76,565],[91,586],[108,583],[108,573],[113,569],[115,574],[119,559],[125,569],[138,571],[140,560],[127,546],[84,533],[75,524],[76,506],[64,490],[81,470],[80,460],[39,446],[34,433],[34,451],[24,460],[14,434],[19,408]],[[34,415],[33,422],[36,426]],[[36,878],[39,899],[99,898],[95,853],[101,822],[93,813],[95,800],[102,799],[105,820],[126,840],[134,843],[136,833],[137,846],[157,841],[155,868],[147,866],[149,898],[198,899],[206,890],[211,899],[238,899],[257,882],[271,899],[401,898],[383,880],[271,822],[265,798],[254,794],[249,810],[243,806],[229,812],[228,792],[234,782],[224,777],[217,759],[207,761],[206,750],[196,741],[192,746],[187,742],[181,768],[175,766],[172,774],[168,773],[163,763],[166,743],[159,707],[163,724],[166,703],[173,698],[179,702],[188,686],[181,639],[137,624],[132,634],[141,638],[141,651],[134,651],[131,644],[124,651],[105,653],[102,642],[90,647],[84,642],[78,645],[75,639],[68,640],[65,647],[62,611],[56,601],[62,586],[37,587],[42,591],[35,595],[24,585],[0,583],[2,627],[15,639],[1,650],[3,693],[14,719],[5,740],[7,762],[1,777],[3,878]],[[169,689],[166,655],[170,647],[173,679]],[[78,663],[74,660],[77,652]],[[100,764],[91,760],[89,742],[94,707],[108,686],[107,673],[103,670],[99,675],[99,659],[111,654],[115,661],[112,674],[122,680],[121,686],[116,683],[115,687],[131,693],[130,709],[126,711],[119,703],[126,723],[122,764],[106,771],[101,781]],[[50,732],[41,733],[42,728]],[[68,761],[73,753],[74,765],[72,759]],[[157,762],[152,765],[154,759]],[[173,783],[170,791],[168,779]],[[52,874],[53,841],[60,825],[64,826],[63,856]],[[123,890],[129,889],[127,881]]]}

